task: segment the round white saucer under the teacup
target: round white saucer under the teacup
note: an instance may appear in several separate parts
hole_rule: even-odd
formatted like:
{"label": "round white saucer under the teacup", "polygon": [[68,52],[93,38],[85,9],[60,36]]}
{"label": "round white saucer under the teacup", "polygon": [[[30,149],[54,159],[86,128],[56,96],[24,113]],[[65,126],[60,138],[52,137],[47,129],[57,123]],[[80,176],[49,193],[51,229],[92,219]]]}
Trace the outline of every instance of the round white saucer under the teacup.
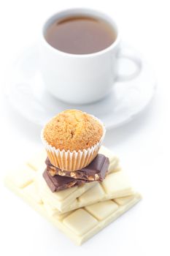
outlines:
{"label": "round white saucer under the teacup", "polygon": [[[125,43],[123,47],[129,48]],[[134,52],[134,49],[129,48]],[[139,56],[139,53],[136,53]],[[142,59],[142,57],[140,56]],[[131,73],[134,63],[120,61],[120,72]],[[152,99],[155,77],[147,62],[142,59],[142,70],[134,80],[115,83],[112,93],[103,100],[90,105],[69,105],[55,99],[46,90],[39,72],[39,54],[36,46],[28,48],[18,58],[6,75],[5,93],[12,106],[25,118],[41,126],[68,108],[77,108],[91,113],[106,125],[107,129],[120,126],[141,112]]]}

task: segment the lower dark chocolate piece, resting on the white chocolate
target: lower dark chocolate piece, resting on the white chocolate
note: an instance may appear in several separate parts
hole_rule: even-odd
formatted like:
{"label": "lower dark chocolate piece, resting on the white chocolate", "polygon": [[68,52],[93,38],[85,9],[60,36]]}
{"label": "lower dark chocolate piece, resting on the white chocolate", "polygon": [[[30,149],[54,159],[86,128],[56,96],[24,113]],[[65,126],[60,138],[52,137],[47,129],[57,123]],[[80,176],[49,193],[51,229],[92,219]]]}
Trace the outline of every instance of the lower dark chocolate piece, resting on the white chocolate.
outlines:
{"label": "lower dark chocolate piece, resting on the white chocolate", "polygon": [[70,187],[74,186],[80,186],[88,182],[58,175],[50,176],[50,173],[48,173],[47,169],[45,169],[45,172],[42,174],[42,176],[45,178],[45,181],[52,192],[69,189]]}

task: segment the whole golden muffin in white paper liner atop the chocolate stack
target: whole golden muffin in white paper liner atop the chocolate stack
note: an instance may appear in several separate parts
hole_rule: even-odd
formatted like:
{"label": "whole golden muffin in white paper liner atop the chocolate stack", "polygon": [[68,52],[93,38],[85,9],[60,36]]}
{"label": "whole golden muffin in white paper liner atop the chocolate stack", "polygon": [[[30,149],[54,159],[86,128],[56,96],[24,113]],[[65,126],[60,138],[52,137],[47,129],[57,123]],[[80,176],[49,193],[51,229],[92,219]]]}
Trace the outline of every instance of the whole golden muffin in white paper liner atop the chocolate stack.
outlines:
{"label": "whole golden muffin in white paper liner atop the chocolate stack", "polygon": [[105,129],[101,121],[80,110],[65,110],[42,129],[50,162],[61,170],[81,170],[98,154]]}

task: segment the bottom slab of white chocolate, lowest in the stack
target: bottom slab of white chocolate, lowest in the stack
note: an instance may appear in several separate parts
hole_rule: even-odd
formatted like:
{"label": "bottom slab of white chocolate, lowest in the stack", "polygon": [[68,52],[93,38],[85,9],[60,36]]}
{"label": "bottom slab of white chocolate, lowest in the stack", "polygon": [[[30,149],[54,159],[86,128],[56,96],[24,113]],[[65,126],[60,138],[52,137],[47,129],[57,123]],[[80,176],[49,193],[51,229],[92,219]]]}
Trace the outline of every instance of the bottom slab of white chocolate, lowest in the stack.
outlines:
{"label": "bottom slab of white chocolate, lowest in the stack", "polygon": [[50,216],[42,198],[39,197],[34,181],[28,183],[26,187],[16,186],[12,178],[6,178],[5,182],[9,189],[22,197],[32,208],[52,222],[77,245],[94,236],[141,199],[140,195],[136,193],[128,197],[95,203],[69,211],[66,214]]}

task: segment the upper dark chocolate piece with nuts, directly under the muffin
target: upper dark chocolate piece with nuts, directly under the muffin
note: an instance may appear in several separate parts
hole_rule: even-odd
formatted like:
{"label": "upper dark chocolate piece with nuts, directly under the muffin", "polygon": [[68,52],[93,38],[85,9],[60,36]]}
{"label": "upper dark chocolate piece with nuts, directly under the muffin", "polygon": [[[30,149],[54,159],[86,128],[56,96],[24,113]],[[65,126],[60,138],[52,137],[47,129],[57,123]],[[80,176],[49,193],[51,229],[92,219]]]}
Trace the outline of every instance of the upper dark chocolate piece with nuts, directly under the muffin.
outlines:
{"label": "upper dark chocolate piece with nuts, directly under the muffin", "polygon": [[48,158],[46,159],[45,163],[50,176],[58,175],[72,177],[74,179],[78,178],[85,181],[103,181],[109,167],[109,158],[105,157],[103,154],[98,154],[90,165],[82,168],[82,170],[74,170],[72,172],[55,167],[50,163]]}

